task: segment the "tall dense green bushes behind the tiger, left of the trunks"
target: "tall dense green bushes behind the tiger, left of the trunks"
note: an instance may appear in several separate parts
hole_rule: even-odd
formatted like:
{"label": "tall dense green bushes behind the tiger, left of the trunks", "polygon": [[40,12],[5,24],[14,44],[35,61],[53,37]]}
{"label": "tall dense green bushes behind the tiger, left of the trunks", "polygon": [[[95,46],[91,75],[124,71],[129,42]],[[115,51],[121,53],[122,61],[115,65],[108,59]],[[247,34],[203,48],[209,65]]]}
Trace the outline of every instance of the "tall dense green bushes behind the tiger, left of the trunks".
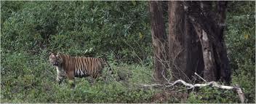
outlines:
{"label": "tall dense green bushes behind the tiger, left of the trunks", "polygon": [[12,11],[3,17],[4,52],[47,49],[92,56],[113,52],[117,60],[126,61],[151,53],[145,1],[23,1],[17,11],[11,3],[4,2],[1,9]]}

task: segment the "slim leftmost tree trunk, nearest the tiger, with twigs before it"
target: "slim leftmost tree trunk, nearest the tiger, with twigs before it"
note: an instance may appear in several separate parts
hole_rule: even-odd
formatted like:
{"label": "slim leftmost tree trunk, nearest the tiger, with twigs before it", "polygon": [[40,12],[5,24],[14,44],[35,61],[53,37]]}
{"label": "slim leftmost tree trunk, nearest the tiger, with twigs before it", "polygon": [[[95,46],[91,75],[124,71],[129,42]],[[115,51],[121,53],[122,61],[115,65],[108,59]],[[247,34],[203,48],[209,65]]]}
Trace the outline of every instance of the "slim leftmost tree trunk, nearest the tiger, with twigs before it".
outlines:
{"label": "slim leftmost tree trunk, nearest the tiger, with twigs before it", "polygon": [[151,34],[153,42],[155,79],[162,83],[166,81],[167,71],[167,36],[164,26],[164,12],[162,9],[163,1],[149,1],[151,12]]}

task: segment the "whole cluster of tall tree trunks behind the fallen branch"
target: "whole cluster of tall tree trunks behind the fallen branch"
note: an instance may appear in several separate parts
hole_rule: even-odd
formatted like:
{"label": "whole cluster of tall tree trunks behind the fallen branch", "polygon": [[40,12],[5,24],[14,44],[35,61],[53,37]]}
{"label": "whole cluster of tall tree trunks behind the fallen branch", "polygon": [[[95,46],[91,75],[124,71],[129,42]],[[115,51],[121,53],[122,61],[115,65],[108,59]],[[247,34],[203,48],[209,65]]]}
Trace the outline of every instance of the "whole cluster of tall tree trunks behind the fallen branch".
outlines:
{"label": "whole cluster of tall tree trunks behind the fallen branch", "polygon": [[173,80],[190,81],[196,72],[207,81],[231,81],[223,39],[227,1],[169,1],[169,52],[161,45],[165,41],[163,19],[158,21],[161,4],[151,1],[150,7],[157,78],[164,71],[159,59],[168,54]]}

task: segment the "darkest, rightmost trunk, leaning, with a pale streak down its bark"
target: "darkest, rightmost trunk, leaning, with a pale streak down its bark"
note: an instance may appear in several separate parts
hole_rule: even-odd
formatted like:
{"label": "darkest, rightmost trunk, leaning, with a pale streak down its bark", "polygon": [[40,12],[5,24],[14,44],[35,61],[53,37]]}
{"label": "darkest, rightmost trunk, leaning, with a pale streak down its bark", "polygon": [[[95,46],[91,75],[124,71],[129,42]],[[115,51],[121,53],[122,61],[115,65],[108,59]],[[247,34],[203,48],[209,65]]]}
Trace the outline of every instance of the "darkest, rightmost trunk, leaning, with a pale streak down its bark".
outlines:
{"label": "darkest, rightmost trunk, leaning, with a pale streak down its bark", "polygon": [[[207,81],[231,81],[231,68],[224,36],[227,1],[184,1],[187,14],[198,36],[204,54],[204,78]],[[212,4],[215,3],[215,6]],[[207,37],[208,42],[204,41]],[[210,54],[209,54],[210,53]],[[212,59],[212,60],[209,60]]]}

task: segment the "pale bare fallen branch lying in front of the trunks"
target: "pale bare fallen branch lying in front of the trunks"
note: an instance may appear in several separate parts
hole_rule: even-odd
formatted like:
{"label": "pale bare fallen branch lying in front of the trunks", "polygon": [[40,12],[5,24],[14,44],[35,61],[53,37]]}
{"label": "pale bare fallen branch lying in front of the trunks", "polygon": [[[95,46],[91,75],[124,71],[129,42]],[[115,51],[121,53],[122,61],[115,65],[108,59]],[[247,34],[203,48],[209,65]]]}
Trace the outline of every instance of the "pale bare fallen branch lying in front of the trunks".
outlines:
{"label": "pale bare fallen branch lying in front of the trunks", "polygon": [[[196,76],[199,76],[197,73],[195,73]],[[216,87],[219,89],[227,89],[227,90],[235,90],[237,94],[239,95],[239,100],[241,103],[244,103],[245,97],[244,97],[244,92],[242,92],[241,88],[238,85],[235,86],[225,86],[221,84],[217,84],[216,81],[210,81],[207,82],[205,79],[203,79],[201,76],[199,76],[200,79],[205,81],[204,84],[189,84],[181,79],[173,82],[167,82],[167,84],[140,84],[140,87],[174,87],[176,84],[183,84],[185,87],[188,87],[188,89],[193,89],[195,87]]]}

